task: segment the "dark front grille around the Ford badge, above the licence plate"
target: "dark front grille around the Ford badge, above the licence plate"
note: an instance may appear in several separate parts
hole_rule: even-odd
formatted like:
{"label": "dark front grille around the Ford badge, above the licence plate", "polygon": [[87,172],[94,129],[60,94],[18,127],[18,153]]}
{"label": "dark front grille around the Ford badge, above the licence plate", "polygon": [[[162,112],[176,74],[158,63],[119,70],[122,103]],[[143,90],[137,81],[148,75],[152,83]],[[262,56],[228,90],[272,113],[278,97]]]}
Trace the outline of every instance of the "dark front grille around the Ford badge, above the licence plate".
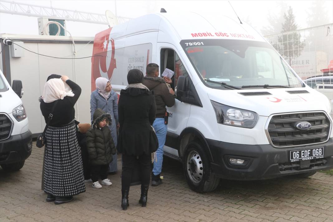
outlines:
{"label": "dark front grille around the Ford badge, above the licence plate", "polygon": [[[298,129],[297,123],[304,121],[311,127]],[[331,122],[324,112],[300,112],[273,115],[266,132],[273,146],[283,148],[325,142],[330,128]]]}

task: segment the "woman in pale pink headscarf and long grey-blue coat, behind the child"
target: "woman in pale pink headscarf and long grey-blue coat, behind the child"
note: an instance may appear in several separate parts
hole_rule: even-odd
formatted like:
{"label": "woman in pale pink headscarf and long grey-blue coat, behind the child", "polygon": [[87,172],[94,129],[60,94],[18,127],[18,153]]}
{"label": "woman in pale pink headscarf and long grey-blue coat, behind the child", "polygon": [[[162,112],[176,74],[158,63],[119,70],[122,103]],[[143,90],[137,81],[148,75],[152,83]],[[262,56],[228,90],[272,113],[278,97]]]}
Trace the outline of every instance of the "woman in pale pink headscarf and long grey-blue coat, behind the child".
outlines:
{"label": "woman in pale pink headscarf and long grey-blue coat, behind the child", "polygon": [[[117,125],[118,120],[118,96],[111,89],[110,81],[107,78],[99,77],[96,79],[96,90],[91,93],[90,97],[90,113],[91,121],[96,109],[102,109],[112,116],[112,124],[109,125],[112,139],[117,146]],[[109,165],[109,172],[115,174],[117,172],[117,154],[113,155],[113,161]]]}

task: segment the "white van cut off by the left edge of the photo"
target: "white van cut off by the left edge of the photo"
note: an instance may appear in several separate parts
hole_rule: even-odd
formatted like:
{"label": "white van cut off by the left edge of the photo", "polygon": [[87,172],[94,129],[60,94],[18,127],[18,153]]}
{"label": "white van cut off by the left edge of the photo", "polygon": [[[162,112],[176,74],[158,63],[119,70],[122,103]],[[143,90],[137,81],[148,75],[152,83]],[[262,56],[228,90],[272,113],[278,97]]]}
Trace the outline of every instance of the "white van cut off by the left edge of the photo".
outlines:
{"label": "white van cut off by the left edge of the photo", "polygon": [[22,82],[14,80],[11,87],[0,70],[0,165],[7,171],[21,169],[32,150],[22,95]]}

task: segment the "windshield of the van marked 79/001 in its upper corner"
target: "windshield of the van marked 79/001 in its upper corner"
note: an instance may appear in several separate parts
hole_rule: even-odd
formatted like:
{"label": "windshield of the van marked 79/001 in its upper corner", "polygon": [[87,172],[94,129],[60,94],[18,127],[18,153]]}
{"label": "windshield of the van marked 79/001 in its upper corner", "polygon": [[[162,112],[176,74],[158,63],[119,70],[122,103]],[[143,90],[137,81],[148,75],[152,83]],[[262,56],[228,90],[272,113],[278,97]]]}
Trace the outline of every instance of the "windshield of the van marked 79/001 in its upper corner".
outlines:
{"label": "windshield of the van marked 79/001 in its upper corner", "polygon": [[[244,40],[182,40],[188,59],[206,86],[240,89],[305,87],[266,42]],[[235,89],[235,88],[234,88]]]}

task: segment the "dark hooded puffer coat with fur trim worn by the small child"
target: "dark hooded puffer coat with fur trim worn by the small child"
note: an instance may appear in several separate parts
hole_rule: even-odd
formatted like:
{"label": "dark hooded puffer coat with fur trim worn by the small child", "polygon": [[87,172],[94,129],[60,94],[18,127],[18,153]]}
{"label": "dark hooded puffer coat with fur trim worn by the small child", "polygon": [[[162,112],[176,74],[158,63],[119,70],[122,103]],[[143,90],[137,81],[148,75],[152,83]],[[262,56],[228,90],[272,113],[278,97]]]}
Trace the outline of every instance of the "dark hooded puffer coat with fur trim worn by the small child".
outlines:
{"label": "dark hooded puffer coat with fur trim worn by the small child", "polygon": [[[107,126],[111,124],[111,114],[97,109],[93,118],[93,126],[86,133],[89,161],[91,165],[107,165],[112,162],[112,155],[117,152],[111,131]],[[100,128],[98,123],[103,119],[107,120],[107,125]]]}

